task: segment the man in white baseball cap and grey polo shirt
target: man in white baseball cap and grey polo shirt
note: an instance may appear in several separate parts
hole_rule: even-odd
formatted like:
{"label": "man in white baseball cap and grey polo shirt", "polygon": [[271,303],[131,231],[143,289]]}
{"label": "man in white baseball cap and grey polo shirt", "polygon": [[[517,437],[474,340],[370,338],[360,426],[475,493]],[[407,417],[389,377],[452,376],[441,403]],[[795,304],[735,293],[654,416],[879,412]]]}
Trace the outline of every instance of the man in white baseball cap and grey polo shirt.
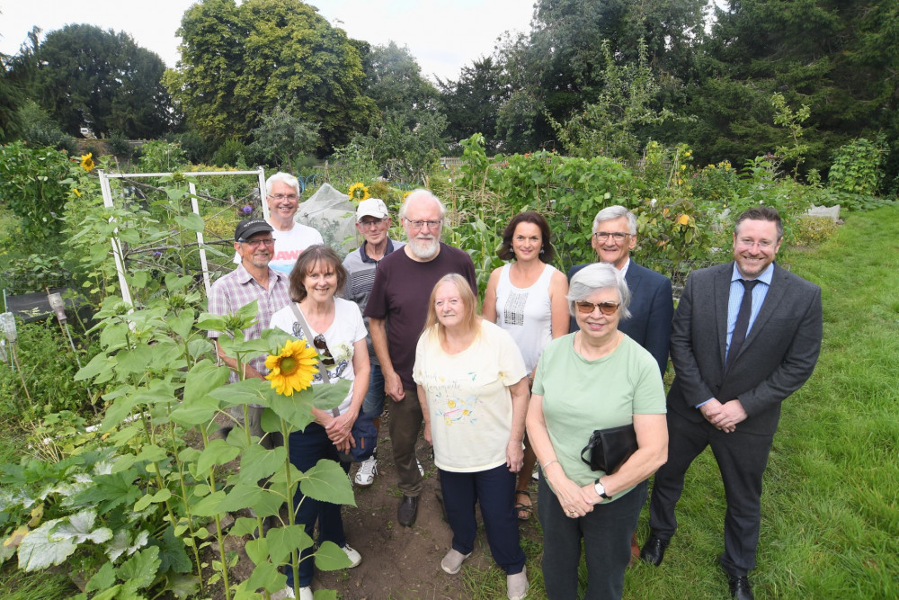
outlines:
{"label": "man in white baseball cap and grey polo shirt", "polygon": [[[387,237],[391,220],[387,212],[387,205],[378,198],[369,198],[360,201],[356,209],[356,228],[359,229],[365,241],[362,246],[353,250],[343,259],[343,268],[346,269],[347,280],[343,291],[343,297],[352,300],[359,305],[359,309],[365,311],[365,305],[369,301],[371,286],[375,282],[375,272],[381,259],[394,250],[405,246],[400,242]],[[369,319],[365,319],[365,327],[369,327]],[[369,376],[369,392],[362,403],[362,412],[374,413],[380,416],[384,412],[384,376],[378,363],[378,356],[371,345],[371,334],[366,338],[369,346],[369,362],[371,374]],[[379,426],[379,420],[375,420],[375,426]],[[368,488],[375,481],[378,474],[378,457],[376,453],[360,464],[353,481],[360,488]]]}

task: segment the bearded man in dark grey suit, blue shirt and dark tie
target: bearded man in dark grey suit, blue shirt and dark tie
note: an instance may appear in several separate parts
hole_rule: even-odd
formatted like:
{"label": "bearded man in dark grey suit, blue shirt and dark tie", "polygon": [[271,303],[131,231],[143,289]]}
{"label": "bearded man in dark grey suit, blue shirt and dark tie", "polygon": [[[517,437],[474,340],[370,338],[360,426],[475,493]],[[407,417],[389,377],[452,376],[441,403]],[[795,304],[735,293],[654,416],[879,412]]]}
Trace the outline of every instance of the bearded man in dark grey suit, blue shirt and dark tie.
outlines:
{"label": "bearded man in dark grey suit, blue shirt and dark tie", "polygon": [[777,210],[746,210],[734,228],[734,262],[687,279],[672,325],[668,462],[655,473],[640,555],[662,562],[684,474],[710,445],[727,501],[720,562],[740,600],[753,597],[761,479],[780,403],[808,380],[821,350],[821,288],[774,263],[782,238]]}

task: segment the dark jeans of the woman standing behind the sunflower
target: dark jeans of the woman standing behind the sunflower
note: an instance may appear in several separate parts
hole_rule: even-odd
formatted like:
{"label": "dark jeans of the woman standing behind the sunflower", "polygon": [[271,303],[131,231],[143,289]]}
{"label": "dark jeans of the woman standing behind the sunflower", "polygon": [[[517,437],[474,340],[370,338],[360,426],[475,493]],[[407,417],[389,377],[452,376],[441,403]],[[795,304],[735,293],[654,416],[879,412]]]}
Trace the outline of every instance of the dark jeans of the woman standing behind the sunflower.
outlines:
{"label": "dark jeans of the woman standing behind the sunflower", "polygon": [[[290,463],[298,470],[306,471],[315,466],[321,459],[337,460],[337,448],[328,439],[325,427],[317,423],[310,423],[303,431],[295,431],[290,434]],[[343,470],[349,468],[349,463],[341,463]],[[346,545],[346,536],[343,535],[343,517],[341,506],[330,502],[322,502],[312,497],[306,497],[300,488],[293,497],[293,506],[297,510],[296,523],[303,525],[309,537],[315,533],[316,521],[318,522],[318,541],[334,542],[341,548]],[[298,507],[298,508],[297,508]],[[299,563],[299,585],[307,587],[312,583],[314,564],[311,554],[315,548],[307,548],[301,554],[303,559]],[[309,557],[309,558],[307,558]],[[293,569],[287,567],[287,585],[293,587]]]}

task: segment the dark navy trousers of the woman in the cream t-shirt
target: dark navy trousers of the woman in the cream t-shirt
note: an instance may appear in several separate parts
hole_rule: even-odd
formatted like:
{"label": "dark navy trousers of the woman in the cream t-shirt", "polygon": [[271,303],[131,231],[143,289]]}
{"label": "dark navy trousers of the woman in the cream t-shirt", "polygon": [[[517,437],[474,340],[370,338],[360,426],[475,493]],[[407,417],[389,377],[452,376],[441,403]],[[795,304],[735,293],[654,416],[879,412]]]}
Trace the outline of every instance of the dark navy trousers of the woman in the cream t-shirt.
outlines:
{"label": "dark navy trousers of the woman in the cream t-shirt", "polygon": [[504,464],[473,473],[441,469],[440,474],[453,550],[462,554],[474,550],[477,535],[475,503],[479,502],[487,543],[496,564],[506,575],[521,573],[524,552],[519,543],[518,516],[513,506],[516,474]]}

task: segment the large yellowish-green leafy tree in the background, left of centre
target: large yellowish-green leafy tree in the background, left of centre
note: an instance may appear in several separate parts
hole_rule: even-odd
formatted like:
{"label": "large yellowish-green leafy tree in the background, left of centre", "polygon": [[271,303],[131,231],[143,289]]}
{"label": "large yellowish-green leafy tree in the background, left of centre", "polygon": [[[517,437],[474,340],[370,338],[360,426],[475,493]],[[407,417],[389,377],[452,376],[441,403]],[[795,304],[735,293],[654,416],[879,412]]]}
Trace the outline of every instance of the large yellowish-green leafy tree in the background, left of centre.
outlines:
{"label": "large yellowish-green leafy tree in the background, left of centre", "polygon": [[182,18],[181,55],[165,81],[207,138],[246,137],[276,106],[320,123],[319,152],[365,130],[360,46],[298,0],[207,0]]}

